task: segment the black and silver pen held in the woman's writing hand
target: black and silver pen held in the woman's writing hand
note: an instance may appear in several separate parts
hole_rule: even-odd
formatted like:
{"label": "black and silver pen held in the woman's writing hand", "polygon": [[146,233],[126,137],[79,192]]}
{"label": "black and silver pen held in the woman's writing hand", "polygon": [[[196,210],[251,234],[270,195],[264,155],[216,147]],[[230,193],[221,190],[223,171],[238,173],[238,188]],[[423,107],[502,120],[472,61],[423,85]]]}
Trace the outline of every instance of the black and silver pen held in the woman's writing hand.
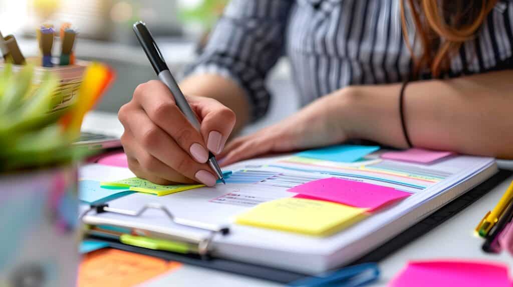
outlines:
{"label": "black and silver pen held in the woman's writing hand", "polygon": [[[150,31],[146,28],[146,24],[142,21],[137,21],[133,25],[133,31],[137,36],[137,40],[139,40],[139,43],[143,47],[146,56],[148,56],[148,59],[153,66],[153,70],[155,70],[155,73],[159,76],[160,80],[169,88],[169,91],[171,91],[176,105],[180,108],[180,111],[184,113],[187,120],[189,120],[189,122],[199,131],[201,127],[200,122],[196,118],[194,112],[192,112],[184,94],[167,68],[166,61],[164,61],[164,57],[162,56],[159,47],[157,47],[155,40],[153,40]],[[212,152],[208,153],[208,165],[212,168],[218,178],[225,183],[223,172],[221,171],[221,168],[215,160],[215,156]]]}

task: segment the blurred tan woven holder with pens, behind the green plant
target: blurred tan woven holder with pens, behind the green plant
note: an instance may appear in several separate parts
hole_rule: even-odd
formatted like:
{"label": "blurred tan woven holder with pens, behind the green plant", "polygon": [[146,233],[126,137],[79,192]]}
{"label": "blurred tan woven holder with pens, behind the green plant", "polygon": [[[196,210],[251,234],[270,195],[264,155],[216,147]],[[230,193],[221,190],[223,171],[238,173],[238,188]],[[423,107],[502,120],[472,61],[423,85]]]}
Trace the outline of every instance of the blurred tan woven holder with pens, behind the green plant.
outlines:
{"label": "blurred tan woven holder with pens, behind the green plant", "polygon": [[[41,67],[41,58],[29,57],[26,59],[27,63],[34,65],[34,79],[35,86],[41,83],[41,79],[45,72],[54,73],[58,76],[60,84],[55,90],[53,95],[53,112],[61,111],[62,109],[68,108],[75,100],[82,83],[82,76],[90,63],[88,61],[76,60],[75,64],[60,66],[54,65],[53,68]],[[57,58],[54,58],[53,62],[58,62]],[[5,68],[5,63],[0,62],[0,72]],[[18,72],[23,68],[23,65],[12,65],[12,70]]]}

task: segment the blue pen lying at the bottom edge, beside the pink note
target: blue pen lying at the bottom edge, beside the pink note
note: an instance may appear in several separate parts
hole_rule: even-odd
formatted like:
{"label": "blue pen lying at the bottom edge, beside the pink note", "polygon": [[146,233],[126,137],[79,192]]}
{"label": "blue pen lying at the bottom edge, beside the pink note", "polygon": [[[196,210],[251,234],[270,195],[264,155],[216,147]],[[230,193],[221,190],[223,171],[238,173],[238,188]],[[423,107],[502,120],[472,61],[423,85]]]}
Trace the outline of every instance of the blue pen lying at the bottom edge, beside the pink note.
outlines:
{"label": "blue pen lying at the bottom edge, beside the pink note", "polygon": [[287,284],[287,286],[364,286],[378,279],[380,270],[376,263],[363,263],[320,275],[306,277]]}

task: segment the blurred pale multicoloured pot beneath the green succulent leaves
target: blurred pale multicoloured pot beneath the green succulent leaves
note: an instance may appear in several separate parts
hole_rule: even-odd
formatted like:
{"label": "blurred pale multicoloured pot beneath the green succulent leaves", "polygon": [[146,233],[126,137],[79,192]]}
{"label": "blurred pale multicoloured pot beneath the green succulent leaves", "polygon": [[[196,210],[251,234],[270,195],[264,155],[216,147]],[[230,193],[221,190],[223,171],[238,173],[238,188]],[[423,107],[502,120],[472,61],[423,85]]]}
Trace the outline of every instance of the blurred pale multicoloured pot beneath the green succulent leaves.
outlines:
{"label": "blurred pale multicoloured pot beneath the green succulent leaves", "polygon": [[0,174],[0,286],[75,286],[77,209],[75,165]]}

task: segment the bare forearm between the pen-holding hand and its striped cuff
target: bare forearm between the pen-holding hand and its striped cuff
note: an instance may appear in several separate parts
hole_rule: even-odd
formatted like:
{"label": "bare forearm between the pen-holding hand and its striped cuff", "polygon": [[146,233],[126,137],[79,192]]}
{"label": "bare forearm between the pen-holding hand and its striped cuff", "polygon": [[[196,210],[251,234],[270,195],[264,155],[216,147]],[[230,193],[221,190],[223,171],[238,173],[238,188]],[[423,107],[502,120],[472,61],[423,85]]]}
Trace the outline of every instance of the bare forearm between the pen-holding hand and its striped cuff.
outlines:
{"label": "bare forearm between the pen-holding hand and its striped cuff", "polygon": [[236,115],[236,134],[250,119],[250,108],[244,90],[235,82],[219,75],[201,74],[185,78],[180,87],[187,95],[209,97],[220,101]]}

